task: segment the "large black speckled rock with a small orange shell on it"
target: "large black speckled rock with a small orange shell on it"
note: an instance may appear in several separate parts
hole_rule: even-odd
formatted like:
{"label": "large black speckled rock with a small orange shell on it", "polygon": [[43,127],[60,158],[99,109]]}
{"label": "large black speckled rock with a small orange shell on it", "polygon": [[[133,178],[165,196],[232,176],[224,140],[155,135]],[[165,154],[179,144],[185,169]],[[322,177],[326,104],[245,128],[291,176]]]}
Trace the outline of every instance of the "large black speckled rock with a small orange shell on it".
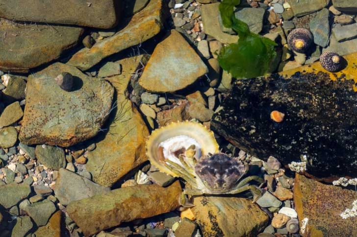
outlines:
{"label": "large black speckled rock with a small orange shell on it", "polygon": [[[357,94],[353,81],[319,72],[236,81],[211,129],[256,157],[287,165],[307,157],[318,177],[356,175]],[[270,113],[285,114],[281,123]]]}

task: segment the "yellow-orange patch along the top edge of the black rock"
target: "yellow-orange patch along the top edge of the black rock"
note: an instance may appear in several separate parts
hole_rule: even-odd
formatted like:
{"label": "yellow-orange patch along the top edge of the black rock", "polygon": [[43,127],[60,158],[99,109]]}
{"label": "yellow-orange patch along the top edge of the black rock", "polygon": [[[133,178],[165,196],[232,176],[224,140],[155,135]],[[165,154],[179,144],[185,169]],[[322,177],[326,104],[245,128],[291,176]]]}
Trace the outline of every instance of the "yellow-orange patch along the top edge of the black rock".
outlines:
{"label": "yellow-orange patch along the top edge of the black rock", "polygon": [[304,65],[300,66],[291,70],[279,72],[279,74],[283,77],[290,77],[294,75],[296,72],[312,72],[317,74],[318,72],[322,71],[324,73],[329,74],[332,81],[337,80],[338,78],[342,78],[340,80],[354,80],[353,89],[357,92],[357,53],[349,54],[343,56],[346,60],[347,65],[341,71],[338,72],[329,72],[325,68],[322,67],[320,62],[315,62],[311,65]]}

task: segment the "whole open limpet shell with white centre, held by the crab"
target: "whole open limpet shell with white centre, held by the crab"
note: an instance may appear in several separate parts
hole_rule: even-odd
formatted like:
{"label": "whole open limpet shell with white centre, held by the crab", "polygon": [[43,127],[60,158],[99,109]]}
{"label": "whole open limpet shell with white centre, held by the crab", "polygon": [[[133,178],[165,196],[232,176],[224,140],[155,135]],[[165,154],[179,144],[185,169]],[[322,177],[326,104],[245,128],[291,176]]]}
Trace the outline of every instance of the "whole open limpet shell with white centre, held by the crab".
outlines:
{"label": "whole open limpet shell with white centre, held by the crab", "polygon": [[[189,148],[193,149],[194,152],[189,151]],[[167,162],[186,169],[185,164],[180,161],[180,155],[186,154],[186,151],[199,159],[209,153],[217,153],[218,149],[213,132],[196,122],[172,123],[156,129],[147,141],[147,155],[151,164],[161,172],[174,177],[179,175],[170,169]],[[184,155],[184,157],[186,159],[189,156]],[[190,168],[194,170],[193,164]]]}

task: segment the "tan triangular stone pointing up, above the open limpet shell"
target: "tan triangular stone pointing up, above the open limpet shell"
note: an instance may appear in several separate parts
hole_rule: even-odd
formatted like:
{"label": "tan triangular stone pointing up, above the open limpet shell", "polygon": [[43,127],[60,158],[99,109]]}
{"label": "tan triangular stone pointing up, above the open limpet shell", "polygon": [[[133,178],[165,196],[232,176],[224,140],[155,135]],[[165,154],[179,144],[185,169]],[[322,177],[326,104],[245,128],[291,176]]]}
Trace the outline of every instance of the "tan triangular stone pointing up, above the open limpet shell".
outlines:
{"label": "tan triangular stone pointing up, above the open limpet shell", "polygon": [[172,30],[155,47],[139,84],[149,91],[173,92],[193,84],[207,72],[200,56],[178,31]]}

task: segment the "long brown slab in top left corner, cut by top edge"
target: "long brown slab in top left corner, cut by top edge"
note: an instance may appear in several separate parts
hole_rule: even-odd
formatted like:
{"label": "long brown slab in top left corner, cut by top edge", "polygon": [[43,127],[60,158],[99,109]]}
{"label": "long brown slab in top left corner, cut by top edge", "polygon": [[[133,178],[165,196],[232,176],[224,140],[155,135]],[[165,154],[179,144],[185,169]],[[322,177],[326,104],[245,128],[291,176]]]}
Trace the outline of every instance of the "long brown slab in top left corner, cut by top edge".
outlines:
{"label": "long brown slab in top left corner, cut by top edge", "polygon": [[23,22],[46,22],[112,28],[119,12],[117,0],[1,1],[0,17]]}

